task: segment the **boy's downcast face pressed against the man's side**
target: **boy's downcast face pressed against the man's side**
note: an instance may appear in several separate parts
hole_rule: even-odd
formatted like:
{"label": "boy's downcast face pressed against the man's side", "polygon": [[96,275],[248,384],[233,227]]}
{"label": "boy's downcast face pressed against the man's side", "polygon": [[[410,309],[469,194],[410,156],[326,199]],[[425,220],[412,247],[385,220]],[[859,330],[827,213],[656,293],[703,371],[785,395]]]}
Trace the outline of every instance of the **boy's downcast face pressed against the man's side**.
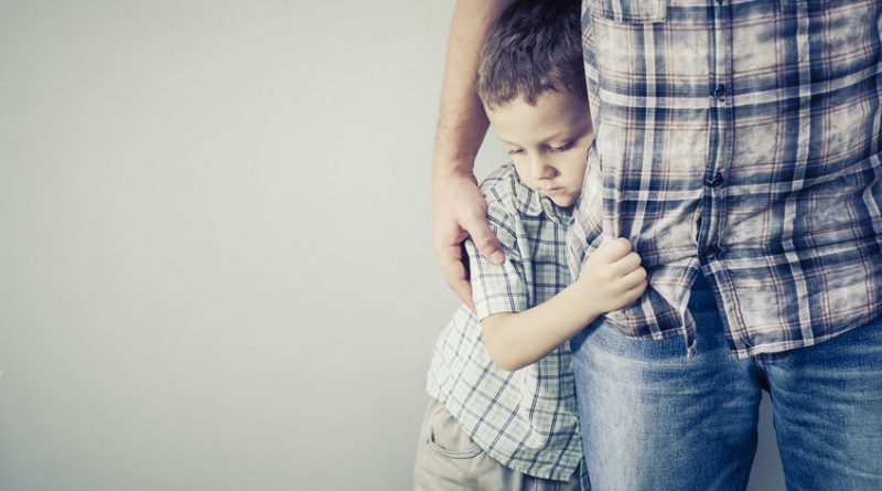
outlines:
{"label": "boy's downcast face pressed against the man's side", "polygon": [[518,97],[485,109],[520,181],[558,206],[576,204],[582,192],[588,148],[594,139],[588,104],[568,93],[549,90],[533,106]]}

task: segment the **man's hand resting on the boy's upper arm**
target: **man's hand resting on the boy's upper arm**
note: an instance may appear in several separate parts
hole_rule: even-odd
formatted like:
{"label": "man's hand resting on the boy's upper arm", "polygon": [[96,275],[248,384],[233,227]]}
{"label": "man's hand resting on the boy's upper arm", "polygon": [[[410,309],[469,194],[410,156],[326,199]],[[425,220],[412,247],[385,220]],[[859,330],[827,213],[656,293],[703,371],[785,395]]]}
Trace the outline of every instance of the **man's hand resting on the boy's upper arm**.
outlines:
{"label": "man's hand resting on the boy's upper arm", "polygon": [[472,237],[491,263],[505,260],[498,241],[487,225],[487,205],[474,175],[435,177],[432,180],[432,243],[441,259],[448,285],[463,303],[475,310],[462,243]]}

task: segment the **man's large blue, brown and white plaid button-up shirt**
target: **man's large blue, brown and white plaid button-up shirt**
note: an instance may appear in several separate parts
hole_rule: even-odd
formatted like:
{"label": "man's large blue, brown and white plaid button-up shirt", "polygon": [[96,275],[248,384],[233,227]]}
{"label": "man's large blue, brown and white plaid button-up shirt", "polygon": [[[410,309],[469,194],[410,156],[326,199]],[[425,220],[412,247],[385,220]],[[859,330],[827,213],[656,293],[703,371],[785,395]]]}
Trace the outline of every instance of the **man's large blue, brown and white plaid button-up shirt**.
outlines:
{"label": "man's large blue, brown and white plaid button-up shirt", "polygon": [[880,314],[881,13],[858,0],[584,0],[596,147],[570,270],[622,236],[652,287],[614,325],[686,335],[691,353],[699,271],[741,357]]}

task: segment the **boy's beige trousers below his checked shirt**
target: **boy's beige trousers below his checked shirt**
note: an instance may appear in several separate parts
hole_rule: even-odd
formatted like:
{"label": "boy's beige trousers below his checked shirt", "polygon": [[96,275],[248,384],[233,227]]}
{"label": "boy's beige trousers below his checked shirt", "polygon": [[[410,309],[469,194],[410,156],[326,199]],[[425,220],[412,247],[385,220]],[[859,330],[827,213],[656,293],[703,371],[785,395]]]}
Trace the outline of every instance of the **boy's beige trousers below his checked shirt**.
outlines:
{"label": "boy's beige trousers below his checked shirt", "polygon": [[422,418],[415,491],[580,491],[579,470],[568,482],[535,478],[491,458],[434,398]]}

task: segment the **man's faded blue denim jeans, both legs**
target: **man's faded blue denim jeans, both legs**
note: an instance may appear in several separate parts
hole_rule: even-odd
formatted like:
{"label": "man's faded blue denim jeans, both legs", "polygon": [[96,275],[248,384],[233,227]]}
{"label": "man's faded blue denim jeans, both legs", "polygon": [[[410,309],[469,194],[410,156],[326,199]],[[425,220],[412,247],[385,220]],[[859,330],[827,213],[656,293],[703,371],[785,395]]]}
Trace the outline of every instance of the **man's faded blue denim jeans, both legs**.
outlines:
{"label": "man's faded blue denim jeans, both legs", "polygon": [[788,490],[882,490],[882,318],[820,344],[734,360],[709,285],[692,288],[697,353],[600,320],[571,341],[594,491],[743,490],[761,391]]}

